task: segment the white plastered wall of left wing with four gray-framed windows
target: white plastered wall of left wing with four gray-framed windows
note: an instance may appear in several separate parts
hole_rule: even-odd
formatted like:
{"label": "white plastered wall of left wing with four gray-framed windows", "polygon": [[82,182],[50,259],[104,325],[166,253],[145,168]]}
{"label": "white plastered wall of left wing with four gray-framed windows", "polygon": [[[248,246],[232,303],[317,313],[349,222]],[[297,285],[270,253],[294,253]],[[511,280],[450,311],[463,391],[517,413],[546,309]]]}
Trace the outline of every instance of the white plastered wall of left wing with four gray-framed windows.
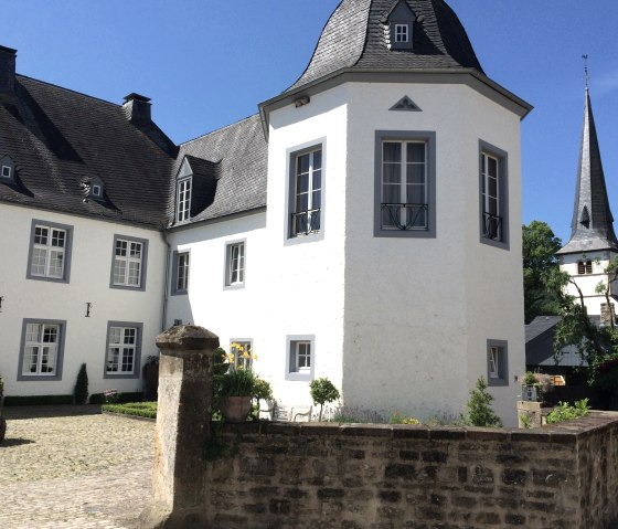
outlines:
{"label": "white plastered wall of left wing with four gray-framed windows", "polygon": [[[73,226],[70,283],[26,279],[29,243],[33,219]],[[141,362],[156,355],[154,337],[161,331],[166,250],[161,235],[113,222],[51,211],[2,204],[0,207],[0,373],[6,395],[73,394],[77,372],[86,362],[89,393],[106,389],[142,390],[139,378],[104,379],[108,321],[143,325]],[[114,235],[148,240],[145,292],[109,287]],[[86,318],[86,303],[92,303]],[[24,318],[66,320],[62,380],[18,381]]]}

